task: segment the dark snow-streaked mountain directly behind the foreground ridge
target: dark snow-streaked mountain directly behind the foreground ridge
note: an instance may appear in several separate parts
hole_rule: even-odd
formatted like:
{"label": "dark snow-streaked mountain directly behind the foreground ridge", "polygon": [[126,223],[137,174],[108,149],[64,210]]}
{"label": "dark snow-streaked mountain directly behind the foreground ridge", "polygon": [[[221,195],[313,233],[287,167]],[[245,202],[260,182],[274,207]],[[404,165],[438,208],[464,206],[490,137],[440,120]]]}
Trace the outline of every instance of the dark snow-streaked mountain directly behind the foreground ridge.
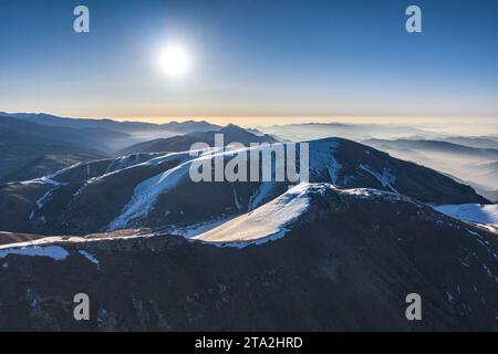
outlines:
{"label": "dark snow-streaked mountain directly behind the foreground ridge", "polygon": [[[376,188],[424,202],[488,204],[468,186],[357,143],[314,140],[309,152],[309,177],[313,183]],[[199,232],[251,211],[289,188],[284,181],[194,183],[189,176],[191,165],[206,158],[212,163],[216,155],[210,153],[206,150],[200,157],[189,153],[136,154],[3,185],[0,229],[39,235],[86,235],[142,227],[174,233]],[[234,153],[221,152],[218,156],[227,163]]]}

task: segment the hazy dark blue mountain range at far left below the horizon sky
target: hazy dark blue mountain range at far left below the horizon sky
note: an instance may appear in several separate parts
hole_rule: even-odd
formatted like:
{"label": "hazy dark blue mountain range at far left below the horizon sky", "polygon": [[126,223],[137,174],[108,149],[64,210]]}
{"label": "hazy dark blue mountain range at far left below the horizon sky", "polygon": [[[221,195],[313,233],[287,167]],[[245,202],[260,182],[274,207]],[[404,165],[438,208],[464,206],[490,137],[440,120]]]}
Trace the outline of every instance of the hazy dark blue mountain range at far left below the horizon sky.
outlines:
{"label": "hazy dark blue mountain range at far left below the horizon sky", "polygon": [[114,155],[147,138],[219,128],[207,122],[163,125],[111,119],[72,119],[48,114],[0,113],[0,183],[42,177],[80,162]]}

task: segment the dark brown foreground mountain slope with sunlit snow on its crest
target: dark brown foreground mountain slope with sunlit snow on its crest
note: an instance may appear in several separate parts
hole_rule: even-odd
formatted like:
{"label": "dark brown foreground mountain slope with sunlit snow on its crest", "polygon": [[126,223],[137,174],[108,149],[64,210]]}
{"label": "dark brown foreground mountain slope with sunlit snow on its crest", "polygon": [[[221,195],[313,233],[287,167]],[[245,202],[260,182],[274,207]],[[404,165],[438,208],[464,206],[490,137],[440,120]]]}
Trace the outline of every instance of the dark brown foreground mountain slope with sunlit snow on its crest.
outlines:
{"label": "dark brown foreground mountain slope with sunlit snow on its crest", "polygon": [[[498,330],[495,236],[393,192],[311,184],[279,198],[196,240],[131,232],[2,246],[0,329]],[[87,322],[73,319],[81,292]],[[414,292],[423,320],[411,322]]]}

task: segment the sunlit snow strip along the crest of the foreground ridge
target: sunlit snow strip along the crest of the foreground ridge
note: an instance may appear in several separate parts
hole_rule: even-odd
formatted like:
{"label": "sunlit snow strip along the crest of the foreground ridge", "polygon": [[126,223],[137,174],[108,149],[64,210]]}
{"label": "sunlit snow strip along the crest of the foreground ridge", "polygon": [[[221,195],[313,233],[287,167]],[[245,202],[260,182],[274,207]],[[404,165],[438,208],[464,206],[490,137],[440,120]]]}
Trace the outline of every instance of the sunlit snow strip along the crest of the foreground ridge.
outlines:
{"label": "sunlit snow strip along the crest of the foreground ridge", "polygon": [[[178,228],[175,230],[164,230],[165,232],[153,232],[148,230],[124,230],[105,233],[100,237],[46,237],[27,242],[18,242],[0,246],[0,259],[9,254],[48,257],[54,260],[64,260],[70,256],[65,250],[66,244],[89,243],[89,242],[112,242],[114,240],[149,238],[159,235],[178,235],[191,242],[201,242],[218,247],[245,248],[250,244],[263,244],[283,238],[286,233],[307,214],[312,205],[312,200],[328,196],[333,192],[340,196],[343,202],[349,200],[382,200],[387,202],[409,201],[423,206],[406,196],[395,192],[377,190],[372,188],[340,189],[332,184],[302,183],[289,189],[283,195],[258,207],[257,209],[236,218],[225,220],[214,220],[195,228]],[[340,202],[342,202],[340,201]],[[469,230],[469,232],[471,232]],[[475,232],[471,232],[476,235]],[[77,250],[77,248],[76,248]],[[71,254],[84,257],[90,262],[98,266],[98,260],[89,252],[71,252]],[[496,258],[496,257],[495,257]]]}

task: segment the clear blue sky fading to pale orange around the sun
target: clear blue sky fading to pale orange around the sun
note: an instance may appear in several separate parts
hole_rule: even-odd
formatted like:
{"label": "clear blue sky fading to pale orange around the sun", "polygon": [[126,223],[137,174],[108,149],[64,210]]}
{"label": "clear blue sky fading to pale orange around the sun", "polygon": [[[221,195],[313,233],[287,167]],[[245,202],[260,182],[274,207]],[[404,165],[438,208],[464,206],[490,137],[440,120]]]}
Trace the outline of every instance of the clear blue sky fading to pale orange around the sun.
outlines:
{"label": "clear blue sky fading to pale orange around the sun", "polygon": [[[157,64],[172,45],[181,77]],[[0,0],[0,48],[8,112],[498,117],[496,0]]]}

